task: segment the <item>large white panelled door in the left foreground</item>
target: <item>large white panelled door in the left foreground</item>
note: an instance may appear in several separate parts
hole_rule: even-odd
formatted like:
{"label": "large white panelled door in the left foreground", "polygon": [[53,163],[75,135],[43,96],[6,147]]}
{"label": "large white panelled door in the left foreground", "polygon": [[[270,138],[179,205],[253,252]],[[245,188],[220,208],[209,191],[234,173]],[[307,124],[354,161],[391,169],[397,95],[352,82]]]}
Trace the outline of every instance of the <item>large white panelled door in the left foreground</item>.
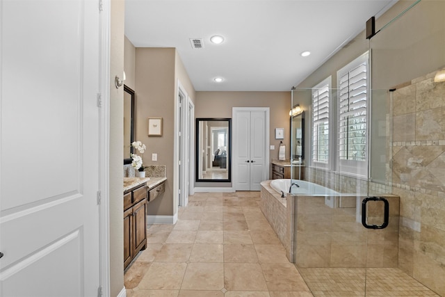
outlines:
{"label": "large white panelled door in the left foreground", "polygon": [[0,296],[97,296],[98,1],[0,19]]}

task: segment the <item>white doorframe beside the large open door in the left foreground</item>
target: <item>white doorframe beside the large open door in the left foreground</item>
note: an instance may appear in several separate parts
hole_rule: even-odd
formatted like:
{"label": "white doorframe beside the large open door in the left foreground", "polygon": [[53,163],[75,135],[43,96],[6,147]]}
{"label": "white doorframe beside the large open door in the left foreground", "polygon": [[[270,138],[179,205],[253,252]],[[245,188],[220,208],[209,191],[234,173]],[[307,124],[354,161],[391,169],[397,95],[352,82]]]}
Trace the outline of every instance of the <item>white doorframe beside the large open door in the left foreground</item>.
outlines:
{"label": "white doorframe beside the large open door in the left foreground", "polygon": [[[110,22],[111,1],[103,0],[99,13],[99,282],[103,296],[110,296]],[[100,96],[100,98],[99,98]]]}

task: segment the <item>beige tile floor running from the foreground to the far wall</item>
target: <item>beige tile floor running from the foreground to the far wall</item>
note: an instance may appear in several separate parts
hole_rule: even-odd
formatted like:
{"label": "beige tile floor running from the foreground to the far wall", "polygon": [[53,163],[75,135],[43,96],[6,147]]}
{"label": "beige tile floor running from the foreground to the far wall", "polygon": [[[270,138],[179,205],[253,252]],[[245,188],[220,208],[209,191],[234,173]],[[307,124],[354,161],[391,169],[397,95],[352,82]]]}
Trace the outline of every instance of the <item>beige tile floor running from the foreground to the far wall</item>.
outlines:
{"label": "beige tile floor running from the foreground to the far wall", "polygon": [[[196,193],[175,225],[149,225],[148,247],[124,275],[127,296],[364,296],[363,269],[305,268],[300,275],[259,199],[259,192]],[[367,296],[435,296],[398,269],[384,273],[369,272]]]}

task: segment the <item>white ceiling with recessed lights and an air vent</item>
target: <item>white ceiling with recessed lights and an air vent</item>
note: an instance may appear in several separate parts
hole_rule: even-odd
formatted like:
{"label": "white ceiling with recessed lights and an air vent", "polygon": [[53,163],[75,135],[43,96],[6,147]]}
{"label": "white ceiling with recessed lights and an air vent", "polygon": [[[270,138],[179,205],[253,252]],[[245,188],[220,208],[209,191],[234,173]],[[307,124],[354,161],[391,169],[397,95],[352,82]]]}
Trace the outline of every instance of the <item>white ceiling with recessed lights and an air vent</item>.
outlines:
{"label": "white ceiling with recessed lights and an air vent", "polygon": [[[126,0],[125,35],[135,47],[177,48],[197,91],[283,91],[395,2]],[[223,35],[225,42],[213,45],[213,35]],[[202,38],[204,48],[193,49],[190,38]],[[300,56],[307,50],[310,56]]]}

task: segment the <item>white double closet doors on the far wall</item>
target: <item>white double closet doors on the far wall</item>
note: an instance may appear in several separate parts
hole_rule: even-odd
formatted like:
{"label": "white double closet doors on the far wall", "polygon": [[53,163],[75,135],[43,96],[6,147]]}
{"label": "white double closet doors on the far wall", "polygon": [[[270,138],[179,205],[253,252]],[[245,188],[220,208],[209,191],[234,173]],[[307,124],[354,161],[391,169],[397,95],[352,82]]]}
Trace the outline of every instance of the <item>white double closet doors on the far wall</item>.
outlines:
{"label": "white double closet doors on the far wall", "polygon": [[260,191],[268,178],[268,109],[234,108],[235,190]]}

